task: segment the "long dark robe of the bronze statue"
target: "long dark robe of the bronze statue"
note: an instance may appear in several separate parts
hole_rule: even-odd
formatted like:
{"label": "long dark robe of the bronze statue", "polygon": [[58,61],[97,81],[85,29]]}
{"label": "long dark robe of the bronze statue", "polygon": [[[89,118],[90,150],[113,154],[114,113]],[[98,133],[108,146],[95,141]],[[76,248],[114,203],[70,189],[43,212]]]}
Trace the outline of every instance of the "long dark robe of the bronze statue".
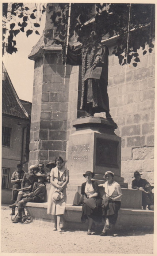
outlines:
{"label": "long dark robe of the bronze statue", "polygon": [[[108,48],[106,45],[97,44],[89,48],[72,49],[68,46],[66,63],[70,65],[82,65],[82,94],[80,109],[88,112],[88,103],[92,102],[94,113],[109,112],[108,85]],[[100,79],[87,79],[84,81],[87,68],[92,67],[96,57],[101,61],[97,67],[102,67]],[[89,113],[89,112],[88,112]]]}

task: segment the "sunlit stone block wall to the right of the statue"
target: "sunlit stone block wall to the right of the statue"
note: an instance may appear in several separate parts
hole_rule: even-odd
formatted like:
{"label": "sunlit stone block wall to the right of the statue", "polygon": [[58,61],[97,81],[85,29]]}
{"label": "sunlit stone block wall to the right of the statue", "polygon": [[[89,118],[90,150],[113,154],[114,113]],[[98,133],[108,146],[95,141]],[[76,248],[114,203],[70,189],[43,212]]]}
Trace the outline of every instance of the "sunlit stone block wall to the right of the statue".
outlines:
{"label": "sunlit stone block wall to the right of the statue", "polygon": [[132,63],[118,67],[112,55],[114,46],[108,48],[108,96],[111,116],[118,125],[115,133],[122,138],[121,176],[129,188],[135,171],[153,184],[155,52],[153,49],[143,56],[139,49],[141,58],[136,68]]}

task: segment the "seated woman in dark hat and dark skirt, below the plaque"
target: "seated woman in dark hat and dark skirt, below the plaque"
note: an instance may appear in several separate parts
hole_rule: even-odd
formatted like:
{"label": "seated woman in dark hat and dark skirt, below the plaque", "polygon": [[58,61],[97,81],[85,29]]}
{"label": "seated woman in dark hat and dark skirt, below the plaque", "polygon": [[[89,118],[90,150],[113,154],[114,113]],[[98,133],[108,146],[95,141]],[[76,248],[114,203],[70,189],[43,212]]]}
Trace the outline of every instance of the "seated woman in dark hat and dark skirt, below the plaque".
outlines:
{"label": "seated woman in dark hat and dark skirt, below the plaque", "polygon": [[[96,181],[93,181],[94,173],[87,171],[83,176],[86,178],[81,186],[81,196],[78,205],[83,203],[81,221],[88,219],[88,235],[91,235],[93,221],[102,222],[102,197]],[[84,199],[84,195],[86,199]]]}

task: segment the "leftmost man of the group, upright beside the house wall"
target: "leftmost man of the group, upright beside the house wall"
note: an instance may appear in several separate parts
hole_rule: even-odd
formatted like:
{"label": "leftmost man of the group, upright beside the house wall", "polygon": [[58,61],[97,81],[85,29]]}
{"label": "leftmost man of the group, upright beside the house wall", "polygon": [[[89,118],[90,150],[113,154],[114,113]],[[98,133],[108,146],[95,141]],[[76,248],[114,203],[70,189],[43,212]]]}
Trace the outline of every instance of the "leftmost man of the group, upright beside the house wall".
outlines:
{"label": "leftmost man of the group, upright beside the house wall", "polygon": [[[14,189],[20,189],[21,188],[21,182],[24,176],[24,171],[22,170],[22,163],[17,164],[17,169],[11,176],[11,183],[13,184],[12,186],[12,202],[15,203],[18,192],[14,191]],[[15,208],[13,208],[12,215],[15,215]]]}

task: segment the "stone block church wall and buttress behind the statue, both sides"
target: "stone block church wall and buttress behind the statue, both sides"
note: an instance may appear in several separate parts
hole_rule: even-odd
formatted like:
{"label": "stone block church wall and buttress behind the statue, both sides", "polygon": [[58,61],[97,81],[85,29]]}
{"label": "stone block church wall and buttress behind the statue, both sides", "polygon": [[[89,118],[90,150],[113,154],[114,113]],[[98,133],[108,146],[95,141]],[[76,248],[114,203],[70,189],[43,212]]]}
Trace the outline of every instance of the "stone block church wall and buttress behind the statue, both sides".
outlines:
{"label": "stone block church wall and buttress behind the statue, both sides", "polygon": [[[68,161],[68,139],[75,131],[73,120],[85,115],[80,110],[81,66],[67,65],[64,80],[61,46],[53,42],[51,19],[59,5],[54,3],[51,11],[49,5],[45,30],[29,56],[35,60],[29,165],[41,158],[47,163],[57,155]],[[118,57],[112,54],[116,42],[110,42],[105,42],[110,53],[108,96],[111,116],[118,125],[115,133],[122,138],[121,177],[131,186],[137,170],[153,184],[155,48],[144,56],[139,49],[140,62],[135,68],[132,63],[119,65]],[[106,118],[105,113],[95,116]]]}

